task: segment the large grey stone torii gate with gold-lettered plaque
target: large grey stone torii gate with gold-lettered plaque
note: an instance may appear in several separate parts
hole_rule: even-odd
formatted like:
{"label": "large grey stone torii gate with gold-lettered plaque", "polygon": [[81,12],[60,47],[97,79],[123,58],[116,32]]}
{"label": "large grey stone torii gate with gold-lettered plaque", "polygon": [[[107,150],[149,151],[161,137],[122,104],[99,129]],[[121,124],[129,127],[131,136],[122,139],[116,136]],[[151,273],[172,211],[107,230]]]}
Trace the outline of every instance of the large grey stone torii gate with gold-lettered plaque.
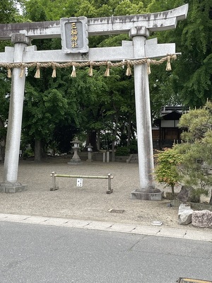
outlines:
{"label": "large grey stone torii gate with gold-lettered plaque", "polygon": [[[170,11],[135,16],[62,18],[61,21],[1,24],[0,40],[11,40],[14,47],[6,47],[5,52],[0,53],[1,66],[13,64],[4,182],[0,184],[0,192],[25,190],[25,185],[18,183],[17,180],[25,65],[32,62],[117,62],[124,59],[160,58],[167,54],[175,54],[175,43],[159,45],[156,38],[147,40],[147,37],[151,31],[176,28],[177,21],[187,17],[187,11],[186,4]],[[120,33],[129,33],[131,41],[122,42],[120,47],[88,47],[88,35]],[[62,50],[37,51],[35,46],[30,45],[33,39],[53,37],[61,37]],[[138,198],[155,200],[157,194],[152,175],[153,144],[147,68],[147,64],[134,65],[140,180],[139,190],[136,191],[141,192]],[[161,197],[160,193],[159,195]]]}

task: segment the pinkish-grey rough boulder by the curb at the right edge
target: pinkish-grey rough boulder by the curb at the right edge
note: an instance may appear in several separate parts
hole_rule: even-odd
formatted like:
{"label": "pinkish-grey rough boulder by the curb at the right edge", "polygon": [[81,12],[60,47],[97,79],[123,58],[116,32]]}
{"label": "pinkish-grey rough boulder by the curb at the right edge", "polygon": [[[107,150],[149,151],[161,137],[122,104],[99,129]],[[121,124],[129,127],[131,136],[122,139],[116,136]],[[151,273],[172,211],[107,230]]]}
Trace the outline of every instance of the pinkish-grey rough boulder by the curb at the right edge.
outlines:
{"label": "pinkish-grey rough boulder by the curb at the right edge", "polygon": [[212,212],[209,210],[193,212],[192,225],[201,228],[212,228]]}

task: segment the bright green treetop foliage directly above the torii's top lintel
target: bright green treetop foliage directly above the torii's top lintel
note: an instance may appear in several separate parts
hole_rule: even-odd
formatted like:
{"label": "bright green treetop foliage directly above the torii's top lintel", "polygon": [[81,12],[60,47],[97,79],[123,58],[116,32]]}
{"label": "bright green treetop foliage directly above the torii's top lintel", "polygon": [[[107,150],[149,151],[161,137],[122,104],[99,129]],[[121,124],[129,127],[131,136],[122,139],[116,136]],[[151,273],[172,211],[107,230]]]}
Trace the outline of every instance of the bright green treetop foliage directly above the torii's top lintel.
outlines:
{"label": "bright green treetop foliage directly above the torii's top lintel", "polygon": [[[105,16],[122,16],[143,13],[148,6],[148,0],[23,0],[25,4],[25,16],[31,21],[59,20],[60,18],[73,16],[86,16],[87,18],[98,18]],[[36,9],[35,9],[36,6]]]}

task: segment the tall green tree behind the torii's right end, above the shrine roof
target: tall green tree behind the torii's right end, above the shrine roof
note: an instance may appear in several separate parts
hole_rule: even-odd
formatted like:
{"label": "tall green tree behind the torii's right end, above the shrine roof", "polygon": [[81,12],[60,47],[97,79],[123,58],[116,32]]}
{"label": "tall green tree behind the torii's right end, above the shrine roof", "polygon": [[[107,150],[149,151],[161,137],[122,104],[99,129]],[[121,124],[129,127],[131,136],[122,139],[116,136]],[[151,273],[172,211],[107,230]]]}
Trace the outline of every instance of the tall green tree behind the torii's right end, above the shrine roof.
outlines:
{"label": "tall green tree behind the torii's right end, above the shrine roof", "polygon": [[158,37],[159,43],[175,42],[176,51],[182,52],[172,62],[172,71],[165,73],[158,66],[151,68],[151,106],[156,114],[160,100],[163,105],[182,104],[194,108],[211,98],[211,1],[153,0],[148,10],[165,11],[186,3],[189,4],[187,20],[179,21],[176,29],[151,35]]}

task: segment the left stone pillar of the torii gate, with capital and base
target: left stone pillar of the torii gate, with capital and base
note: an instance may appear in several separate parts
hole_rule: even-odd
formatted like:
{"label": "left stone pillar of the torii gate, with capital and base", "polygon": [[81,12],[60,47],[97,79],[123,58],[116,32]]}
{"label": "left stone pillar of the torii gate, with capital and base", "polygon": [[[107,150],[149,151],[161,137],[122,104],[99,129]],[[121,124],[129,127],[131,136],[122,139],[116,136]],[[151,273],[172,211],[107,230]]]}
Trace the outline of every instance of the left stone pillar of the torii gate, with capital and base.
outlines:
{"label": "left stone pillar of the torii gate, with capital and base", "polygon": [[[30,45],[30,38],[18,33],[12,35],[11,42],[14,43],[13,62],[22,62],[23,50]],[[10,122],[8,123],[6,136],[4,183],[1,183],[1,192],[20,192],[26,189],[26,185],[17,183],[24,88],[25,69],[23,69],[23,74],[20,77],[20,68],[14,68],[8,114]]]}

